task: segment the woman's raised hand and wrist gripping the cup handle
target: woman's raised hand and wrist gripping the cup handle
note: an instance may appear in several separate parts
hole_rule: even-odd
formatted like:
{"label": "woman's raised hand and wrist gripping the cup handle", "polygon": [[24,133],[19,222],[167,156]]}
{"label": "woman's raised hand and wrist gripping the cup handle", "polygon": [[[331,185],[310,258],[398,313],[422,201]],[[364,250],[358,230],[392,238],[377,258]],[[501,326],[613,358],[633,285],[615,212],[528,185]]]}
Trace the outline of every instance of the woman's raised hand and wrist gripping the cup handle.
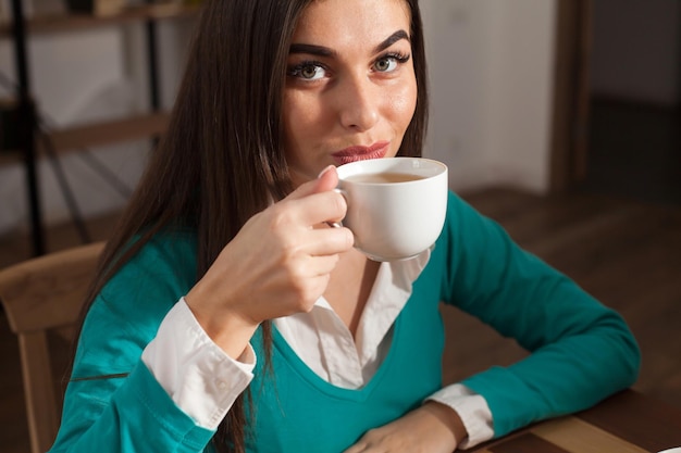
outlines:
{"label": "woman's raised hand and wrist gripping the cup handle", "polygon": [[251,217],[185,300],[206,332],[238,357],[265,319],[310,311],[323,294],[338,254],[352,248],[329,167],[315,180]]}

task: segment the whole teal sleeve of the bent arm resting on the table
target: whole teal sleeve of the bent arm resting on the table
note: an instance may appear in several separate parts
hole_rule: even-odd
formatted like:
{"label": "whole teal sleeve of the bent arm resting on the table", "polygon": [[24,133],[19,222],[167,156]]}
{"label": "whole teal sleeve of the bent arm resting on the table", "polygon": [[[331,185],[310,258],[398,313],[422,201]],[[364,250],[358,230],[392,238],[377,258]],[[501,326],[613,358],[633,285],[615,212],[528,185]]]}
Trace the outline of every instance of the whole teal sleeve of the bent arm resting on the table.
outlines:
{"label": "whole teal sleeve of the bent arm resting on the table", "polygon": [[446,302],[531,352],[462,381],[485,398],[495,437],[586,408],[635,381],[639,347],[618,313],[455,194],[447,218]]}

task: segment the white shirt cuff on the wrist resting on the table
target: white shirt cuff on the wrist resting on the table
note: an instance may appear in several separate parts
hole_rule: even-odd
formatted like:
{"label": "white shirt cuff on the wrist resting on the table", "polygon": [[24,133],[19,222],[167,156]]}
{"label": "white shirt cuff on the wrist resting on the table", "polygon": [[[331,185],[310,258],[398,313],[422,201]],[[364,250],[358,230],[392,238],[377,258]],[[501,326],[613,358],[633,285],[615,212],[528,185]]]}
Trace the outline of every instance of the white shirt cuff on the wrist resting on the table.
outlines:
{"label": "white shirt cuff on the wrist resting on the table", "polygon": [[451,407],[459,414],[468,437],[459,443],[461,450],[470,449],[494,437],[492,412],[482,395],[461,383],[453,383],[430,395],[432,400]]}

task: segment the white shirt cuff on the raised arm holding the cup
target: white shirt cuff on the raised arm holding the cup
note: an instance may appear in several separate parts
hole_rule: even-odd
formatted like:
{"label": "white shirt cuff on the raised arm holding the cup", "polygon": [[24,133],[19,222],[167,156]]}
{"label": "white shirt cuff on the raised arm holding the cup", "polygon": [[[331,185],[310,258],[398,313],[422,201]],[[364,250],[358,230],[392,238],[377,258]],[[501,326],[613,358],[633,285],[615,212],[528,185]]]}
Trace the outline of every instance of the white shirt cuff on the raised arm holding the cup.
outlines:
{"label": "white shirt cuff on the raised arm holding the cup", "polygon": [[181,410],[213,430],[250,383],[256,366],[250,344],[238,360],[220,349],[184,298],[165,315],[141,360]]}

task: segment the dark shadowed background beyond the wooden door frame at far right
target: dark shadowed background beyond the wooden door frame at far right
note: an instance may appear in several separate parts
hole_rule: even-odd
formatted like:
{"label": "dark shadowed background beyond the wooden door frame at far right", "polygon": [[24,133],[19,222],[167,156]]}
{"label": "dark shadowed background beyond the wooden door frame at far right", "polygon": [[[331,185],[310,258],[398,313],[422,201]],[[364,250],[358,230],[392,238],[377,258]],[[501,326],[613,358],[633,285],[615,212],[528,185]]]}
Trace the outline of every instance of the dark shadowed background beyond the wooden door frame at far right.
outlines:
{"label": "dark shadowed background beyond the wooden door frame at far right", "polygon": [[681,205],[681,2],[592,1],[581,188]]}

